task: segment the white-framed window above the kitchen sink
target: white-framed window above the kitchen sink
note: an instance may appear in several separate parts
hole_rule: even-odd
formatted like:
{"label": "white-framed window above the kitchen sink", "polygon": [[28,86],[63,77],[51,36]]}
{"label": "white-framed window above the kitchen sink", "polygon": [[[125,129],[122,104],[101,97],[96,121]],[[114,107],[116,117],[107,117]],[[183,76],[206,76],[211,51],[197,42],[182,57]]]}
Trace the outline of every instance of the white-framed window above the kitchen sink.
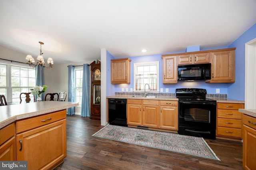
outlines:
{"label": "white-framed window above the kitchen sink", "polygon": [[[150,91],[159,92],[159,62],[134,63],[134,91],[144,91],[149,84]],[[148,89],[148,86],[146,86]]]}

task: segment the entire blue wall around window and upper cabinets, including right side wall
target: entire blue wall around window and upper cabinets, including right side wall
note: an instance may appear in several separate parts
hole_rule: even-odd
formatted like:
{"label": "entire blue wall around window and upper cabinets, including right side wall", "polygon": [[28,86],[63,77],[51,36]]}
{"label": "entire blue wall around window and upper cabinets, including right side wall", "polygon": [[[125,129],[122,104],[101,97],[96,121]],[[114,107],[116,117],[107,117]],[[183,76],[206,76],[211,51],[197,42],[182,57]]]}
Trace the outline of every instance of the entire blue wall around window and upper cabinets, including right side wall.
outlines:
{"label": "entire blue wall around window and upper cabinets, including right side wall", "polygon": [[[151,62],[151,61],[159,61],[159,90],[163,88],[163,92],[166,92],[166,88],[168,88],[168,93],[175,93],[176,88],[204,88],[207,90],[208,94],[216,94],[216,88],[220,89],[220,94],[228,94],[228,98],[242,100],[244,101],[244,46],[245,43],[254,39],[256,37],[256,24],[253,25],[248,31],[246,31],[243,35],[241,35],[234,43],[232,43],[228,47],[220,47],[222,48],[233,48],[236,47],[236,82],[235,83],[205,83],[204,81],[198,82],[178,82],[177,84],[163,84],[162,83],[162,68],[163,63],[161,59],[161,55],[147,55],[147,56],[137,56],[137,57],[129,57],[131,61],[131,80],[130,84],[111,84],[111,77],[108,78],[109,83],[107,85],[111,87],[111,93],[108,92],[107,88],[107,96],[114,95],[114,92],[122,92],[122,88],[124,88],[124,92],[126,92],[126,88],[128,88],[128,92],[130,92],[130,88],[133,89],[133,64],[134,63],[142,63],[142,62]],[[206,49],[203,49],[206,50]],[[202,50],[202,51],[203,51]],[[207,49],[211,50],[211,49]],[[172,53],[184,53],[186,51],[178,51],[178,52],[170,52]],[[112,55],[107,53],[107,61],[110,62],[110,59],[114,59]],[[109,67],[108,67],[109,66]],[[111,62],[107,65],[107,75],[111,75]],[[114,90],[112,87],[114,86]],[[113,92],[114,91],[114,92]],[[111,95],[110,95],[111,94]]]}

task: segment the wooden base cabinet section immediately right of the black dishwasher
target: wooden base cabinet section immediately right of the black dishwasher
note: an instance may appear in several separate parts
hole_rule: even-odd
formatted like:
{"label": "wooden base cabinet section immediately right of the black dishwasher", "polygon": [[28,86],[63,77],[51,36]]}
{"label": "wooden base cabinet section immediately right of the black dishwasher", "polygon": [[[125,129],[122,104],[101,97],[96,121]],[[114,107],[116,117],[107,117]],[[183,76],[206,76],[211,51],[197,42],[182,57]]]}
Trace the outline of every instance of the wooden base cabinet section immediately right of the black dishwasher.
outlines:
{"label": "wooden base cabinet section immediately right of the black dishwasher", "polygon": [[127,124],[142,125],[142,100],[127,99]]}

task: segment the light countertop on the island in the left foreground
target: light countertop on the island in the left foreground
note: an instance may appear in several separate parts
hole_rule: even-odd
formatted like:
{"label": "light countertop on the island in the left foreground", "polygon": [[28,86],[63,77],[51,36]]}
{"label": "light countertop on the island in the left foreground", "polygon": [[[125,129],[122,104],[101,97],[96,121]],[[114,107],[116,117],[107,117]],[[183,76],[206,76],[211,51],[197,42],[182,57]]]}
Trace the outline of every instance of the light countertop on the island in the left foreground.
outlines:
{"label": "light countertop on the island in the left foreground", "polygon": [[78,106],[77,102],[44,101],[0,106],[0,129],[10,123],[53,111]]}

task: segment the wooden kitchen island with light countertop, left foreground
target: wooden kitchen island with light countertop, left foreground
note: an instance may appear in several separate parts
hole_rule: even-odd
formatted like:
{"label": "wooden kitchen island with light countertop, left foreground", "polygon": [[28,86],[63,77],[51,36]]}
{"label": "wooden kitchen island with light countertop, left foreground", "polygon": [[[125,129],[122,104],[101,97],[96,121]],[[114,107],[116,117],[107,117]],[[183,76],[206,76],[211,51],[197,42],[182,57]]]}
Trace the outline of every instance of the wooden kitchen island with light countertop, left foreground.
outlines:
{"label": "wooden kitchen island with light countertop, left foreground", "polygon": [[52,169],[66,157],[66,109],[76,102],[45,101],[0,107],[0,160]]}

